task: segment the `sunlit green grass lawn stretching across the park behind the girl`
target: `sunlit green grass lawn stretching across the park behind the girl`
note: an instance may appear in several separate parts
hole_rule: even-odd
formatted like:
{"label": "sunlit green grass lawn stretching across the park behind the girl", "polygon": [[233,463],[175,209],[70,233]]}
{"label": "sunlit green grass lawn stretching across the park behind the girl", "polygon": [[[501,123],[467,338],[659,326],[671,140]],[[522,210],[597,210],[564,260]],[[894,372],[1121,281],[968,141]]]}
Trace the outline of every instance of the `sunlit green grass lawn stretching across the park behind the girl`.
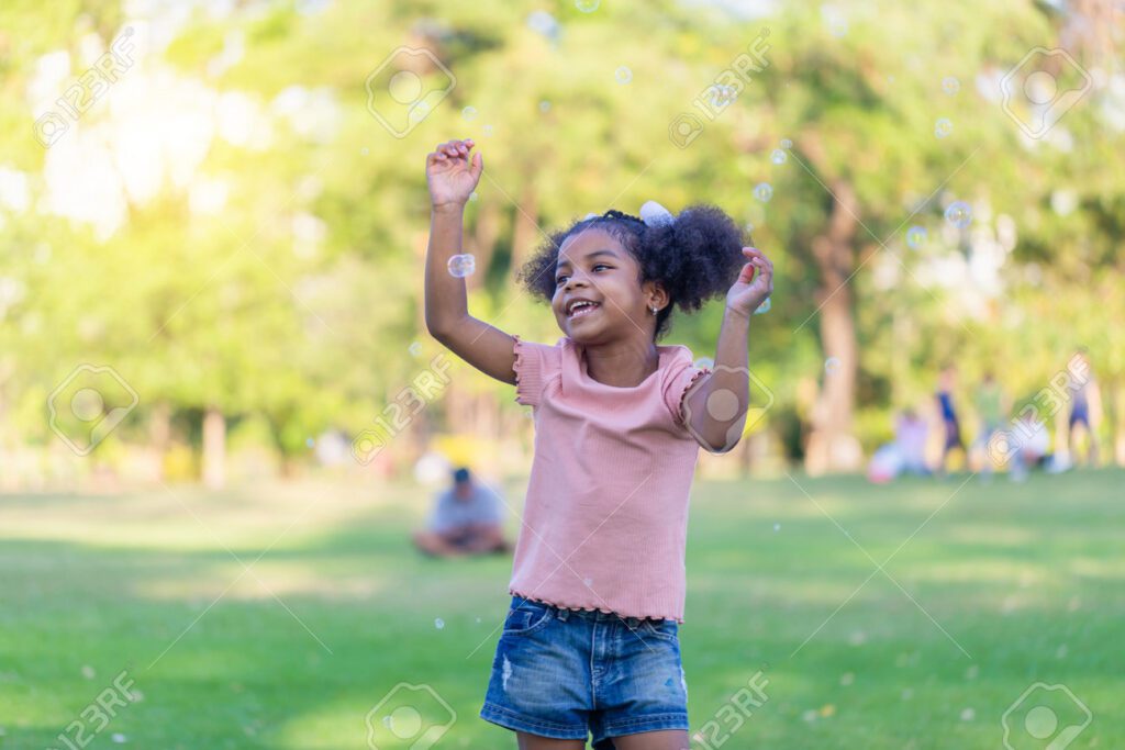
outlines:
{"label": "sunlit green grass lawn stretching across the park behind the girl", "polygon": [[[698,481],[693,730],[716,720],[727,748],[1001,748],[1001,716],[1045,683],[1092,714],[1069,747],[1125,747],[1125,472],[964,479]],[[511,561],[413,553],[428,503],[326,485],[0,496],[0,747],[99,729],[87,707],[122,670],[141,699],[86,747],[366,748],[399,683],[456,712],[438,748],[514,747],[477,719]],[[758,670],[768,699],[731,734]],[[1035,696],[1059,730],[1084,719],[1062,690]],[[1026,733],[1030,707],[1012,748],[1050,741]]]}

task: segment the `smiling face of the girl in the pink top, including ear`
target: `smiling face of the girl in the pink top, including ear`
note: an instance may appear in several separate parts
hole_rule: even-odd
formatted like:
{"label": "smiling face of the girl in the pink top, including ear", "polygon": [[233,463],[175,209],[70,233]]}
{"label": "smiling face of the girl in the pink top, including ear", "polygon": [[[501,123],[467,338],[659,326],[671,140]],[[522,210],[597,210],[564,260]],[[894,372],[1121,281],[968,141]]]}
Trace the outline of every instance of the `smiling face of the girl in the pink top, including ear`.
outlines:
{"label": "smiling face of the girl in the pink top, including ear", "polygon": [[[555,266],[551,308],[559,328],[580,343],[601,343],[655,331],[649,307],[665,305],[663,291],[641,286],[640,266],[618,240],[591,228],[566,238]],[[578,305],[579,301],[588,302]]]}

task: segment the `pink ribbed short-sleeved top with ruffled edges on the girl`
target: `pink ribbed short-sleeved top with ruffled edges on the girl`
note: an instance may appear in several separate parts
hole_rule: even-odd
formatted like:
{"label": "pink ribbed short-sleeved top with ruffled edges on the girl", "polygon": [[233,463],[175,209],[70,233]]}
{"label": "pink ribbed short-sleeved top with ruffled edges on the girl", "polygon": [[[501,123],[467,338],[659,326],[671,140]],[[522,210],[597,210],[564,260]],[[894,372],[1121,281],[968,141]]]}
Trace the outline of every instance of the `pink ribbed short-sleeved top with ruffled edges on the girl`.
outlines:
{"label": "pink ribbed short-sleeved top with ruffled edges on the girl", "polygon": [[536,453],[508,591],[682,623],[700,446],[680,404],[708,370],[686,346],[657,346],[657,371],[618,388],[587,374],[567,336],[554,346],[515,338],[515,400],[533,407]]}

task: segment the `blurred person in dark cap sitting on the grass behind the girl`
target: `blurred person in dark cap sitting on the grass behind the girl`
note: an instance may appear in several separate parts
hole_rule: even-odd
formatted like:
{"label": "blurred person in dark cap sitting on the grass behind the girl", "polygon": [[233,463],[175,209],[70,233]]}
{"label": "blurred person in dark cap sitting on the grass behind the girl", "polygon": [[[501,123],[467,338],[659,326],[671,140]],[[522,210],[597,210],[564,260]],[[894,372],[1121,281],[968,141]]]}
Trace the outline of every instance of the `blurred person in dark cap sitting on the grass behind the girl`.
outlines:
{"label": "blurred person in dark cap sitting on the grass behind the girl", "polygon": [[414,533],[414,544],[440,558],[508,552],[501,522],[496,498],[461,467],[453,472],[453,486],[438,496],[429,527]]}

